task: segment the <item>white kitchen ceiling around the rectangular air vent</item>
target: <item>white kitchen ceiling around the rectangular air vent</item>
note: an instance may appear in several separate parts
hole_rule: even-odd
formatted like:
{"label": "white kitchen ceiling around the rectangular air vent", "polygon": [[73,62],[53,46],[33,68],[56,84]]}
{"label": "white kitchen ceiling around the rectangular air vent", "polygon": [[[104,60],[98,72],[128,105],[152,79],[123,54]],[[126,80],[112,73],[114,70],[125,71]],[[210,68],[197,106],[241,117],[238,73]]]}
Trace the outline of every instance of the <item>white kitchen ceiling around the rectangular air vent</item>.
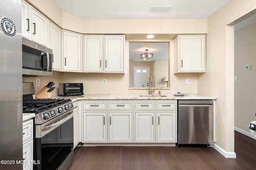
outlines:
{"label": "white kitchen ceiling around the rectangular air vent", "polygon": [[[229,0],[53,0],[63,12],[80,18],[208,18]],[[168,13],[150,6],[171,6]]]}

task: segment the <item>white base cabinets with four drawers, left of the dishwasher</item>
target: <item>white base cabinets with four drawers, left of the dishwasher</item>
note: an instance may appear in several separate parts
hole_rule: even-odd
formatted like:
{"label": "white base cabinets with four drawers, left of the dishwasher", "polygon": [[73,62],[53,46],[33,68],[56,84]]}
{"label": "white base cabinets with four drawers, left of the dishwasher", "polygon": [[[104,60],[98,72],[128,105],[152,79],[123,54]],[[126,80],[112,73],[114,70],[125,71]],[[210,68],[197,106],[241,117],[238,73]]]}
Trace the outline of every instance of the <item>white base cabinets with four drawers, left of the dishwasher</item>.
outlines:
{"label": "white base cabinets with four drawers, left of the dishwasher", "polygon": [[176,100],[82,101],[82,143],[176,143],[176,122]]}

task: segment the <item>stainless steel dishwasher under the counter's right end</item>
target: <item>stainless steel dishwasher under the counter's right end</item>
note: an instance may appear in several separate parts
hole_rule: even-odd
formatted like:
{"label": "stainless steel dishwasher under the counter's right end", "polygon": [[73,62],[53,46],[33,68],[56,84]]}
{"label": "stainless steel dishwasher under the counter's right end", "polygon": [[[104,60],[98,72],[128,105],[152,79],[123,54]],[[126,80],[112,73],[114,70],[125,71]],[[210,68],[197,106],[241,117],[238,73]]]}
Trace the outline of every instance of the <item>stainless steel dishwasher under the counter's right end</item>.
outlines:
{"label": "stainless steel dishwasher under the counter's right end", "polygon": [[213,144],[212,100],[178,100],[180,144]]}

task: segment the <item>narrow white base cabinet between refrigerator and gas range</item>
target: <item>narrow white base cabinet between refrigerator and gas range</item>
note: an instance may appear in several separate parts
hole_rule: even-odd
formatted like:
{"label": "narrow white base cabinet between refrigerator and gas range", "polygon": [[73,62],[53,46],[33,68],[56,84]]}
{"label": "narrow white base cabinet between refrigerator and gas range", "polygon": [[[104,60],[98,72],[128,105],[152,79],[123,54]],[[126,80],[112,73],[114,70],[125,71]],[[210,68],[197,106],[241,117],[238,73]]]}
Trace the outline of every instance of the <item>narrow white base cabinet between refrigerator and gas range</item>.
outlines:
{"label": "narrow white base cabinet between refrigerator and gas range", "polygon": [[[22,123],[23,160],[33,160],[33,120]],[[23,170],[32,170],[33,164],[26,164],[24,161]]]}

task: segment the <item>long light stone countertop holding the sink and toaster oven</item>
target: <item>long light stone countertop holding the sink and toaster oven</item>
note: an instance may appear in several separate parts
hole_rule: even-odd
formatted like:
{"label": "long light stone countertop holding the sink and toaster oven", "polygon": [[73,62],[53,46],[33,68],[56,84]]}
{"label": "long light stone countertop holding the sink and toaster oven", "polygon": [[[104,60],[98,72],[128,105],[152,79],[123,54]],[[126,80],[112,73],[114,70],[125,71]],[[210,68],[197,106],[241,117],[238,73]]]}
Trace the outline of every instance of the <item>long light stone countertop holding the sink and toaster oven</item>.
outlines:
{"label": "long light stone countertop holding the sink and toaster oven", "polygon": [[[216,97],[211,96],[174,96],[172,94],[167,94],[167,97],[159,96],[142,96],[141,94],[84,94],[83,96],[52,96],[52,98],[65,98],[70,99],[72,102],[78,100],[216,100]],[[142,94],[144,95],[144,94]]]}

